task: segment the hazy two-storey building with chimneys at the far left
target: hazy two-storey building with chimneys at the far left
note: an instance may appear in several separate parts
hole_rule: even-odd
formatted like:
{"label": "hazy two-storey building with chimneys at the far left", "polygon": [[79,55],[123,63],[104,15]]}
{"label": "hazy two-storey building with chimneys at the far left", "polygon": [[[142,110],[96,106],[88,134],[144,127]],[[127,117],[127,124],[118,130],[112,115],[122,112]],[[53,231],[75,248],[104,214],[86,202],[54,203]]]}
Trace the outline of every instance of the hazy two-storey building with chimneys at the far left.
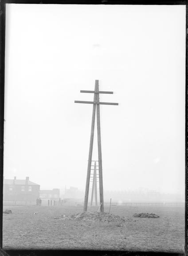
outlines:
{"label": "hazy two-storey building with chimneys at the far left", "polygon": [[39,198],[40,185],[29,180],[4,179],[3,200],[4,201],[36,201]]}

